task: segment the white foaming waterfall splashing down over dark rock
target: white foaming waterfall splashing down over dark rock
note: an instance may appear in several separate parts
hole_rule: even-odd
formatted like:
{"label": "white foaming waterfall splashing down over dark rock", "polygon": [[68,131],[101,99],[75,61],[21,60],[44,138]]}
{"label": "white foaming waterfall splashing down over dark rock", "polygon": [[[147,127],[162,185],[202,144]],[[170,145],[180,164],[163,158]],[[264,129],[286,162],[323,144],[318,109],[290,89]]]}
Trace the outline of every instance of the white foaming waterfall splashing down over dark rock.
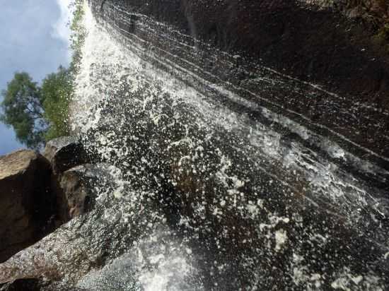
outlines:
{"label": "white foaming waterfall splashing down over dark rock", "polygon": [[[68,246],[60,258],[52,258],[55,244],[40,254],[82,274],[64,282],[85,290],[388,290],[388,160],[292,118],[297,112],[277,96],[325,96],[323,108],[339,117],[373,109],[342,111],[341,97],[265,66],[244,71],[238,54],[119,5],[104,11],[117,21],[85,9],[72,124],[110,164],[110,186],[95,186],[95,211],[41,243]],[[223,81],[226,68],[247,77],[242,85]],[[76,252],[105,263],[77,269]]]}

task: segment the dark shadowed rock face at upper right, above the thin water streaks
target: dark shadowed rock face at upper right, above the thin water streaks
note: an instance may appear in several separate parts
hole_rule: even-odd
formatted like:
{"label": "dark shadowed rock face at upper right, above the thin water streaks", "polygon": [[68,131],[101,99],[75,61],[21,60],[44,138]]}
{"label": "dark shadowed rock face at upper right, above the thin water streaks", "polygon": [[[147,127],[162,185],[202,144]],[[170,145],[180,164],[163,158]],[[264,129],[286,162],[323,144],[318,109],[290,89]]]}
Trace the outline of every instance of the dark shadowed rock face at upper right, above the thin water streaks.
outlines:
{"label": "dark shadowed rock face at upper right, above the thin water streaks", "polygon": [[[101,11],[112,2],[115,1],[93,1]],[[372,47],[371,37],[375,32],[344,18],[336,10],[323,9],[328,6],[321,3],[325,1],[116,2],[127,11],[175,25],[185,34],[224,51],[243,52],[248,57],[262,59],[274,69],[318,82],[342,95],[352,93],[350,97],[363,99],[374,95],[374,101],[389,106],[385,98],[389,59],[383,50]],[[320,2],[322,8],[307,8],[304,2]],[[334,2],[336,6],[339,1]],[[363,6],[339,5],[341,11]]]}

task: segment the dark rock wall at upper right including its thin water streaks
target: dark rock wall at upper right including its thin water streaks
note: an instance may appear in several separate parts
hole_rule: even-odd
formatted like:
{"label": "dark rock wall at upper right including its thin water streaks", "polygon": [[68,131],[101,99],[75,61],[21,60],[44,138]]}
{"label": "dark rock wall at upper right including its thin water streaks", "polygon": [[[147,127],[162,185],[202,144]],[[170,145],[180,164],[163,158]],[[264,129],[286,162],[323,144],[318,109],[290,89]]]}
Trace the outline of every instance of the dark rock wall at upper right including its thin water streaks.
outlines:
{"label": "dark rock wall at upper right including its thin water streaks", "polygon": [[[298,123],[318,124],[315,131],[339,144],[343,143],[338,138],[341,135],[389,157],[388,140],[384,137],[388,136],[389,128],[385,112],[389,109],[389,54],[373,41],[376,30],[363,21],[347,18],[325,5],[308,6],[304,1],[96,0],[91,3],[95,16],[122,34],[120,41],[128,37],[136,42],[141,38],[146,43],[139,43],[144,45],[143,49],[152,47],[155,54],[173,62],[178,61],[174,56],[189,60],[203,69],[202,78],[211,83],[229,82],[231,87],[241,89],[238,94],[245,91],[248,100],[265,103],[269,108],[275,103],[277,108],[272,110],[282,114],[294,112],[289,117]],[[131,23],[126,22],[127,18]],[[170,35],[158,23],[153,31],[160,33],[145,32],[144,23],[153,25],[153,20],[166,23],[179,33]],[[166,33],[169,39],[179,37],[180,42],[187,44],[185,53],[181,54],[183,47],[175,47],[174,42],[159,36]],[[211,53],[207,52],[207,45],[212,48]],[[214,48],[238,54],[240,58],[223,60],[223,54],[213,54]],[[228,61],[236,66],[220,65]],[[185,64],[182,66],[198,73]],[[276,70],[268,71],[267,75],[274,73],[274,78],[289,79],[291,86],[287,86],[285,93],[281,93],[281,86],[265,90],[266,84],[256,83],[255,76],[264,66]],[[209,72],[216,78],[210,78]],[[308,82],[305,85],[312,88],[313,94],[296,93],[294,81]],[[247,94],[247,90],[265,97],[272,105],[262,103],[255,95]],[[356,108],[359,109],[354,111]],[[376,126],[374,131],[368,130],[371,124]],[[342,146],[352,148],[346,143]],[[359,158],[369,155],[362,151],[354,154]],[[387,164],[380,160],[377,163],[382,167]]]}

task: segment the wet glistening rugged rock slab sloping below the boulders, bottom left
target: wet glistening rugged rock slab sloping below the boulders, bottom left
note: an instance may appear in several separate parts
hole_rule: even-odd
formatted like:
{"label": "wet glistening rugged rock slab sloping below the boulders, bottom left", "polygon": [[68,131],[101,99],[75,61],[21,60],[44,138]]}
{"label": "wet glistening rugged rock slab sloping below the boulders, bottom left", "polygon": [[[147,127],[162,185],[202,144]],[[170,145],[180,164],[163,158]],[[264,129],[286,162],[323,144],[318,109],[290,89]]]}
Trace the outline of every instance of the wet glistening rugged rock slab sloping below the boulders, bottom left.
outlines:
{"label": "wet glistening rugged rock slab sloping below the boulders, bottom left", "polygon": [[[98,191],[98,197],[93,198],[93,210],[62,225],[1,264],[0,283],[45,278],[48,283],[42,290],[57,290],[55,287],[71,290],[84,275],[103,268],[110,260],[128,251],[139,236],[151,232],[152,227],[147,225],[151,221],[161,221],[161,218],[151,215],[147,194],[137,199],[123,198],[121,202],[112,196],[112,193],[124,191],[123,185],[117,184],[117,171],[109,165],[89,167],[84,172],[85,177],[89,178],[90,189]],[[145,211],[139,212],[140,208]],[[122,215],[116,212],[120,209]],[[125,213],[131,212],[134,217],[126,218]]]}

